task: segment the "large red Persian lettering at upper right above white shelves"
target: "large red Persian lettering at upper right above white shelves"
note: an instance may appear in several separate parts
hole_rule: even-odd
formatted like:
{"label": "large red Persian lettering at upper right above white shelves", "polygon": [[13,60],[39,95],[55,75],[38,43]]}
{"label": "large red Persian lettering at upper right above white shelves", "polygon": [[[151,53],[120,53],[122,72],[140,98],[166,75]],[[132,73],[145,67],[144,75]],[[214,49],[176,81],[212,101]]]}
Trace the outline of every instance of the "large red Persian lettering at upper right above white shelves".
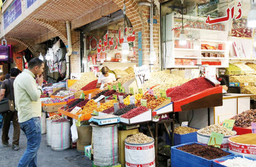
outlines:
{"label": "large red Persian lettering at upper right above white shelves", "polygon": [[[242,9],[241,9],[241,2],[238,3],[238,12],[236,12],[237,16],[235,17],[235,7],[233,6],[230,10],[230,8],[228,7],[226,10],[227,15],[220,17],[220,18],[215,18],[215,19],[211,19],[211,16],[208,15],[208,17],[205,20],[206,24],[216,24],[216,23],[222,23],[224,21],[228,21],[228,20],[239,20],[242,17]],[[231,12],[231,15],[230,15]]]}

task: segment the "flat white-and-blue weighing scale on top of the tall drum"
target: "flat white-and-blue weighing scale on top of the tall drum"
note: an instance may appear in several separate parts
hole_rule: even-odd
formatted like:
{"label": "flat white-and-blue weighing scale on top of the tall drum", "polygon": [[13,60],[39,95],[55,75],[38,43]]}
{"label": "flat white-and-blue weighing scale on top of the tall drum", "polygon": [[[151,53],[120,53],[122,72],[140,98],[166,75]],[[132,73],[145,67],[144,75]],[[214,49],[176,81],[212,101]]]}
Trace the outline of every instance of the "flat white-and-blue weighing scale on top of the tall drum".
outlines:
{"label": "flat white-and-blue weighing scale on top of the tall drum", "polygon": [[117,124],[120,122],[120,119],[116,115],[100,115],[100,116],[92,116],[89,119],[89,123],[94,122],[97,123],[99,126],[104,126],[108,124]]}

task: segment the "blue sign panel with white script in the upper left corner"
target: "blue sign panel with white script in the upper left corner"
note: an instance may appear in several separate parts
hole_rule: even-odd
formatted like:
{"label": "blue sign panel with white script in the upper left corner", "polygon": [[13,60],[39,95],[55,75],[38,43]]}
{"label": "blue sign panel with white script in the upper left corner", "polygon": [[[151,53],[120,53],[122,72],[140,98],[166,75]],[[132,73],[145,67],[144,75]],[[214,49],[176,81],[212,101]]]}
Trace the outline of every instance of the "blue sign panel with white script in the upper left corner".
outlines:
{"label": "blue sign panel with white script in the upper left corner", "polygon": [[21,12],[21,0],[13,1],[6,12],[4,12],[4,29],[12,24],[21,15]]}

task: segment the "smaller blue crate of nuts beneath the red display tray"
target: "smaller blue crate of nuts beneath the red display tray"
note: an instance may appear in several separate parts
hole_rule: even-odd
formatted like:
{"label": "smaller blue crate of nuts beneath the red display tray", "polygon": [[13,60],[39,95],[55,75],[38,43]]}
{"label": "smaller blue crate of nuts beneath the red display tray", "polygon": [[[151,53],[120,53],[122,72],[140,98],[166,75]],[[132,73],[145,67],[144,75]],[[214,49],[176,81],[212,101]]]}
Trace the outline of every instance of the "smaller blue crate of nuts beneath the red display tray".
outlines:
{"label": "smaller blue crate of nuts beneath the red display tray", "polygon": [[[194,128],[194,127],[192,127]],[[194,128],[195,129],[195,128]],[[171,134],[171,132],[170,132]],[[165,135],[165,141],[167,145],[171,146],[171,141],[168,137],[168,135]],[[177,133],[174,133],[174,145],[177,146],[179,144],[185,144],[190,142],[197,142],[197,132],[187,133],[184,135],[179,135]]]}

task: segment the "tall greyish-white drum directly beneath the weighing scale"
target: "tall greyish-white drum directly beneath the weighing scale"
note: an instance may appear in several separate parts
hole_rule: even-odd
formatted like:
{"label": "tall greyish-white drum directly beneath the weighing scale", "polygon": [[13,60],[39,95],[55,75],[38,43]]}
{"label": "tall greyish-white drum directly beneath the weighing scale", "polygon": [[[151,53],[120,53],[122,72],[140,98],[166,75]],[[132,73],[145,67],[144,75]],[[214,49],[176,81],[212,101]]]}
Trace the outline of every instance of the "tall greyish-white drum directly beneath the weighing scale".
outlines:
{"label": "tall greyish-white drum directly beneath the weighing scale", "polygon": [[114,166],[118,163],[118,126],[92,126],[93,159],[97,166]]}

